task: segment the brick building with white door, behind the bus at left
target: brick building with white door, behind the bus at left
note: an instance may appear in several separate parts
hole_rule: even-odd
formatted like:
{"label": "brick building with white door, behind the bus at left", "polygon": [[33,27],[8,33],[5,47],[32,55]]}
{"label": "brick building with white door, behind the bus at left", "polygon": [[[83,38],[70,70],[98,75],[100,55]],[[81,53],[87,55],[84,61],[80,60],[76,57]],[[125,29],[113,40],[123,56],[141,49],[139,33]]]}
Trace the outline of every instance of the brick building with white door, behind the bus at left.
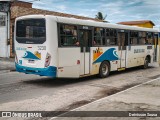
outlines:
{"label": "brick building with white door, behind the bus at left", "polygon": [[94,18],[32,8],[32,3],[5,0],[0,1],[0,57],[14,57],[14,22],[17,17],[32,14],[55,15],[77,19],[100,21]]}

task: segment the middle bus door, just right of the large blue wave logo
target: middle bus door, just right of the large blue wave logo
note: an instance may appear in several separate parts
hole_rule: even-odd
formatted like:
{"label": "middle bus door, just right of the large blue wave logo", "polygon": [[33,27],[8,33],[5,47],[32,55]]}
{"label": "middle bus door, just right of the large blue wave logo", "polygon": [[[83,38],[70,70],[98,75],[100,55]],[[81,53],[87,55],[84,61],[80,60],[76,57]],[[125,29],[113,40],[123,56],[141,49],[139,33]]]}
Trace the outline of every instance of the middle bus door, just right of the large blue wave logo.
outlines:
{"label": "middle bus door, just right of the large blue wave logo", "polygon": [[128,41],[128,33],[121,30],[118,32],[118,54],[120,61],[118,62],[118,68],[126,67],[126,45]]}

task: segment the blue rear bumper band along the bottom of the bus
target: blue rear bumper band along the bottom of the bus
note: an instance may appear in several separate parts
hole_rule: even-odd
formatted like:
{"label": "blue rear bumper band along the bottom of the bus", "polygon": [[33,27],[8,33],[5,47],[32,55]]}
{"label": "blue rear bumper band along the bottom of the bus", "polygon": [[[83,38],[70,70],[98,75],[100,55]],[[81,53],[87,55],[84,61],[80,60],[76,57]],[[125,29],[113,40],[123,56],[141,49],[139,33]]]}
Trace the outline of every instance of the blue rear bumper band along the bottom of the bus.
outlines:
{"label": "blue rear bumper band along the bottom of the bus", "polygon": [[21,66],[15,63],[15,67],[16,67],[16,71],[23,72],[26,74],[56,77],[56,73],[57,73],[57,68],[54,66],[49,66],[47,68],[31,68],[31,67]]}

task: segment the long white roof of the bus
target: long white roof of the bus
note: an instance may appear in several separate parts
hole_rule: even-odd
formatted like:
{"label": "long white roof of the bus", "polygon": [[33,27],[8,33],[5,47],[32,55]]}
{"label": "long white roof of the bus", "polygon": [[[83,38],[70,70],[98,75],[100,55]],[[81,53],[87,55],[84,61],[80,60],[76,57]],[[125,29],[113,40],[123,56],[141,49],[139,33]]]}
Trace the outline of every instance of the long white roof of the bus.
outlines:
{"label": "long white roof of the bus", "polygon": [[94,20],[82,20],[82,19],[67,18],[67,17],[60,17],[60,16],[53,16],[53,15],[26,15],[26,16],[18,17],[16,20],[27,19],[27,18],[47,18],[47,19],[54,19],[58,23],[65,23],[65,24],[76,24],[76,25],[85,25],[85,26],[94,26],[94,27],[103,27],[103,28],[116,28],[116,29],[122,29],[122,30],[158,32],[158,30],[153,28],[142,28],[137,26],[119,25],[119,24],[113,24],[113,23],[97,22]]}

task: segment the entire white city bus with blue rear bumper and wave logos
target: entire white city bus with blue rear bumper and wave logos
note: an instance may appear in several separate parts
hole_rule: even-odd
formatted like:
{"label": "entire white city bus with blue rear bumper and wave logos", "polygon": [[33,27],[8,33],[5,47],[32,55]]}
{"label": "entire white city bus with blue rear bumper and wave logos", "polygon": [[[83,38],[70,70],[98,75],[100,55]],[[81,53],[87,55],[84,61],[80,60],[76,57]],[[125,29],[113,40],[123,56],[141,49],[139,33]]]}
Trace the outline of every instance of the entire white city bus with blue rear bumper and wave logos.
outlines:
{"label": "entire white city bus with blue rear bumper and wave logos", "polygon": [[28,15],[15,21],[16,70],[79,78],[158,62],[158,31],[91,20]]}

